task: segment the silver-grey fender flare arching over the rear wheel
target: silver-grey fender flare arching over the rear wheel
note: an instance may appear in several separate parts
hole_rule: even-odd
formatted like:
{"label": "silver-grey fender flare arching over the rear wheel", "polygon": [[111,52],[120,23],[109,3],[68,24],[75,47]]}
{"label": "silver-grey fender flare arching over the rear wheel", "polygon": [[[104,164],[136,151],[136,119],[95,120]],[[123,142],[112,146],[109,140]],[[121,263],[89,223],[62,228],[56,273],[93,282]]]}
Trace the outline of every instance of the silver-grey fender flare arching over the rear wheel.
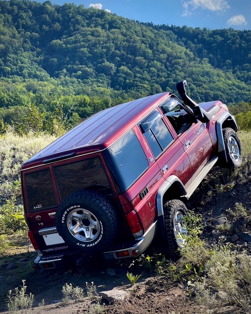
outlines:
{"label": "silver-grey fender flare arching over the rear wheel", "polygon": [[184,184],[179,180],[177,176],[169,176],[168,179],[162,184],[162,186],[158,189],[157,197],[156,197],[156,205],[157,205],[157,214],[158,217],[164,216],[163,211],[163,196],[165,192],[172,186],[174,182],[179,182],[181,187],[181,196],[186,195],[186,189]]}

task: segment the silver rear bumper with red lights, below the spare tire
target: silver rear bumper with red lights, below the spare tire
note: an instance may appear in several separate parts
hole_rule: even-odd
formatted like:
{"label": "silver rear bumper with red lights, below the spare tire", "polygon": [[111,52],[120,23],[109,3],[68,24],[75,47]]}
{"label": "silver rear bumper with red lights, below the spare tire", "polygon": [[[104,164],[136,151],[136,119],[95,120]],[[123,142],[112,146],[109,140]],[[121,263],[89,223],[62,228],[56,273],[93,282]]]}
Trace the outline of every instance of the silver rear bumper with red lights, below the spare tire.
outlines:
{"label": "silver rear bumper with red lights, below the spare tire", "polygon": [[[157,225],[158,221],[156,220],[150,228],[146,231],[146,233],[135,239],[135,241],[127,243],[123,246],[116,247],[116,249],[112,249],[109,252],[104,252],[104,256],[106,259],[120,259],[124,257],[117,257],[116,253],[128,251],[128,255],[125,257],[138,257],[141,255],[146,248],[151,244],[154,236],[157,233]],[[68,252],[62,252],[57,255],[43,255],[39,253],[34,263],[38,268],[42,269],[51,269],[57,268],[58,265],[63,261]],[[79,254],[79,252],[76,252]]]}

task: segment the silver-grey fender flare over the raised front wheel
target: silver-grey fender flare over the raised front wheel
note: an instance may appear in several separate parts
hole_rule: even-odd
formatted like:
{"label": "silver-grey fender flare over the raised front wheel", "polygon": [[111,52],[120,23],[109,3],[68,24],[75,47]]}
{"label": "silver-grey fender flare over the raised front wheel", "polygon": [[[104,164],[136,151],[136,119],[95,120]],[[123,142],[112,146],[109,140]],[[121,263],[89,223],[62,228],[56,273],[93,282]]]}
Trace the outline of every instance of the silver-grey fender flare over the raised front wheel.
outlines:
{"label": "silver-grey fender flare over the raised front wheel", "polygon": [[223,138],[223,133],[222,133],[222,124],[228,118],[230,118],[229,120],[231,121],[233,129],[235,130],[235,132],[237,132],[238,127],[235,121],[235,117],[232,116],[229,112],[222,112],[222,114],[218,117],[216,121],[216,133],[217,133],[217,138],[218,138],[218,153],[222,154],[222,157],[226,160],[226,162],[227,162],[227,155],[226,155],[225,143],[224,143],[224,138]]}

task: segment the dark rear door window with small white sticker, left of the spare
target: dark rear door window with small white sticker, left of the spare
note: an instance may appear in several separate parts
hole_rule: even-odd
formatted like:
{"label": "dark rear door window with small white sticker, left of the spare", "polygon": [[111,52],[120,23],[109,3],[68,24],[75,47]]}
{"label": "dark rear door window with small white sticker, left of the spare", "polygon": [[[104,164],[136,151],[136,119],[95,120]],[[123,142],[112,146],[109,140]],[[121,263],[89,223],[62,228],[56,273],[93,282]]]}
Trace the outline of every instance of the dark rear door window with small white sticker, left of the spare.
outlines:
{"label": "dark rear door window with small white sticker, left of the spare", "polygon": [[49,168],[28,173],[25,180],[29,211],[57,206]]}

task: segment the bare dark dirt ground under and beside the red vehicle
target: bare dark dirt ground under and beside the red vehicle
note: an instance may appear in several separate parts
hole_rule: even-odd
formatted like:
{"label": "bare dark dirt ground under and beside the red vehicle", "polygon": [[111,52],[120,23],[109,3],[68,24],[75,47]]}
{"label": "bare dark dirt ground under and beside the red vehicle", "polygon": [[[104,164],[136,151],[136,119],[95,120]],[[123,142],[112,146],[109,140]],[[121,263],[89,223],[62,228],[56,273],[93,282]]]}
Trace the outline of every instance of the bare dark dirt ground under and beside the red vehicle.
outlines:
{"label": "bare dark dirt ground under and beside the red vehicle", "polygon": [[[244,170],[249,171],[249,170]],[[251,207],[251,176],[244,173],[238,179],[235,187],[227,182],[226,174],[222,174],[219,168],[215,167],[211,173],[202,181],[187,206],[201,213],[205,223],[203,238],[205,241],[217,241],[220,234],[212,233],[215,228],[212,220],[221,216],[227,216],[226,210],[233,208],[235,203],[243,203],[247,211]],[[240,184],[241,183],[241,184]],[[219,185],[222,191],[219,192]],[[238,188],[237,188],[238,186]],[[225,232],[226,237],[231,237],[231,232]],[[152,248],[146,252],[145,256],[153,254]],[[20,258],[28,257],[25,262],[20,262]],[[35,295],[34,309],[30,313],[42,314],[64,314],[64,313],[88,313],[91,301],[86,298],[81,303],[62,306],[58,301],[62,299],[62,286],[72,283],[73,286],[85,287],[86,282],[92,281],[98,287],[98,291],[112,289],[123,289],[129,292],[126,301],[116,301],[114,303],[105,302],[105,311],[111,314],[145,314],[145,313],[207,313],[207,309],[195,303],[194,297],[189,297],[185,289],[185,280],[178,282],[168,278],[163,273],[156,273],[154,268],[146,269],[142,266],[142,259],[123,261],[123,263],[113,262],[107,264],[105,260],[92,257],[86,261],[85,266],[80,270],[74,267],[65,267],[57,270],[33,270],[33,260],[36,252],[26,246],[14,247],[11,254],[0,261],[0,311],[7,313],[6,295],[8,290],[14,289],[22,284],[22,279],[26,280],[27,292]],[[8,263],[15,264],[12,270],[6,270]],[[107,268],[115,270],[114,276],[106,274]],[[126,277],[127,271],[133,274],[142,274],[142,277],[135,286],[131,286]],[[45,300],[45,306],[39,307],[38,303]],[[241,313],[241,311],[231,305],[226,305],[219,309],[217,313]]]}

